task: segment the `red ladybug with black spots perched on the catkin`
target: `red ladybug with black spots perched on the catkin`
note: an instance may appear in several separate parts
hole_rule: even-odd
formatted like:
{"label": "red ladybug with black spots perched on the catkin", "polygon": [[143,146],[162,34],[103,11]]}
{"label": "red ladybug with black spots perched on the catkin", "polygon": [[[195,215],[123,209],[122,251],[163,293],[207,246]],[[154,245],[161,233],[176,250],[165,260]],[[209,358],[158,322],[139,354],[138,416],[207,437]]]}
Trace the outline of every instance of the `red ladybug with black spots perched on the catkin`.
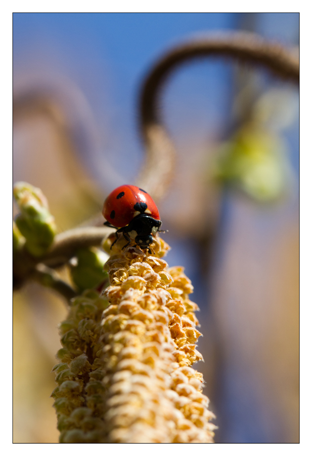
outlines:
{"label": "red ladybug with black spots perched on the catkin", "polygon": [[153,242],[153,236],[157,232],[165,233],[160,230],[161,220],[156,204],[150,195],[136,185],[121,185],[115,188],[104,201],[103,211],[106,222],[104,225],[116,228],[116,239],[122,233],[128,243],[132,240],[136,246],[148,249]]}

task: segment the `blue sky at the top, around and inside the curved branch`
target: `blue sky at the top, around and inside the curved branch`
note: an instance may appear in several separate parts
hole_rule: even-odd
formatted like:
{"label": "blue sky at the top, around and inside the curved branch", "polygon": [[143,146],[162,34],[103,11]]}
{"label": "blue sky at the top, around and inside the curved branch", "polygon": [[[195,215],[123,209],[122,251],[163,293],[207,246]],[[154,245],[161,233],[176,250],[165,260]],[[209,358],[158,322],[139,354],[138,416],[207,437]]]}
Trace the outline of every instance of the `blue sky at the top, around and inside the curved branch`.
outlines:
{"label": "blue sky at the top, around and inside the curved branch", "polygon": [[[241,13],[14,13],[14,70],[61,75],[80,88],[97,119],[103,157],[131,180],[142,159],[137,100],[150,66],[181,40],[237,29],[244,20]],[[296,13],[256,15],[258,32],[286,44],[296,40],[297,22]],[[186,127],[193,136],[218,134],[231,93],[230,65],[198,62],[180,69],[163,102],[175,139],[184,140]],[[101,179],[98,163],[91,160],[91,166]]]}

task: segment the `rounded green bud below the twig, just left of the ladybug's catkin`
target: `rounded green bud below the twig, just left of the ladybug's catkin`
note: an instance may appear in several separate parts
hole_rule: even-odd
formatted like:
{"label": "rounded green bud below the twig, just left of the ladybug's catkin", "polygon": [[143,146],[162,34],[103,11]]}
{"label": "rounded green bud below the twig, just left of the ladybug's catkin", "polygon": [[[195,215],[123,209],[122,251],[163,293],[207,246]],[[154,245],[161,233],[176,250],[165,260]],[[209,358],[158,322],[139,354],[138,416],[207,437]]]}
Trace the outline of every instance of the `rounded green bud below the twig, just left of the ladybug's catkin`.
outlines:
{"label": "rounded green bud below the twig, just left of the ladybug's catkin", "polygon": [[95,288],[107,279],[103,265],[108,255],[96,247],[79,249],[71,261],[71,275],[79,291]]}

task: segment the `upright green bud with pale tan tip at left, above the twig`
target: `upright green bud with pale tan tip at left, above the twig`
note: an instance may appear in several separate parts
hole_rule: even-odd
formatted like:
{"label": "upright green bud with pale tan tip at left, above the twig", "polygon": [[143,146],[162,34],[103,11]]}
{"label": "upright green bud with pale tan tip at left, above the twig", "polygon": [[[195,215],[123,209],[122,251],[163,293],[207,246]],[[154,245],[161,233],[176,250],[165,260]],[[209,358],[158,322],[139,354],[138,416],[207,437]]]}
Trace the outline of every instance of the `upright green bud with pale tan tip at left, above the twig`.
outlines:
{"label": "upright green bud with pale tan tip at left, above the twig", "polygon": [[39,188],[26,182],[17,182],[13,195],[21,211],[15,221],[26,238],[25,247],[32,255],[41,256],[49,249],[56,235],[56,225],[49,212],[47,199]]}

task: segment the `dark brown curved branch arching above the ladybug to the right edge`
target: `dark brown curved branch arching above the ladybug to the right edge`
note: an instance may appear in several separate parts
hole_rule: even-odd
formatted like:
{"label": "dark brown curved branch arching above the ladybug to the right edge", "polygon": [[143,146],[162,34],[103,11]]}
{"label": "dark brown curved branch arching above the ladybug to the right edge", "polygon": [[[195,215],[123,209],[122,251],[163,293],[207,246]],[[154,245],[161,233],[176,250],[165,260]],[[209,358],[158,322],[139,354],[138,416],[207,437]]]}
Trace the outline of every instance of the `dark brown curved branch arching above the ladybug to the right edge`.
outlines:
{"label": "dark brown curved branch arching above the ladybug to the right edge", "polygon": [[299,61],[281,45],[249,32],[232,32],[194,40],[167,52],[152,68],[140,98],[141,132],[147,149],[145,166],[137,179],[153,197],[160,199],[172,179],[175,151],[162,124],[159,97],[169,74],[196,58],[222,57],[251,66],[262,66],[278,78],[299,83]]}

